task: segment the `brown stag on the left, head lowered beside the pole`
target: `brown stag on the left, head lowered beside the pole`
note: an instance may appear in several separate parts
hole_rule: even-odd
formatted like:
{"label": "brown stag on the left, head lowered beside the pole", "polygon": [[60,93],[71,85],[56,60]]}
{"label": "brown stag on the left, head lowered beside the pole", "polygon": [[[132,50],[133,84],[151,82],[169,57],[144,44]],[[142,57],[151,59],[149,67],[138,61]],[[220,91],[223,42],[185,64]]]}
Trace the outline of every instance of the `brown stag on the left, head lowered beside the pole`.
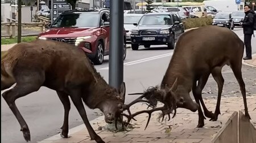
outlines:
{"label": "brown stag on the left, head lowered beside the pole", "polygon": [[2,96],[18,120],[26,141],[30,141],[30,130],[15,100],[36,92],[40,86],[56,90],[63,103],[62,137],[68,137],[68,114],[71,108],[68,96],[79,111],[90,138],[96,142],[104,141],[90,125],[82,101],[90,109],[100,109],[107,123],[121,119],[125,84],[118,90],[109,86],[85,54],[75,46],[48,40],[15,45],[1,59],[1,90],[15,83],[14,88]]}

